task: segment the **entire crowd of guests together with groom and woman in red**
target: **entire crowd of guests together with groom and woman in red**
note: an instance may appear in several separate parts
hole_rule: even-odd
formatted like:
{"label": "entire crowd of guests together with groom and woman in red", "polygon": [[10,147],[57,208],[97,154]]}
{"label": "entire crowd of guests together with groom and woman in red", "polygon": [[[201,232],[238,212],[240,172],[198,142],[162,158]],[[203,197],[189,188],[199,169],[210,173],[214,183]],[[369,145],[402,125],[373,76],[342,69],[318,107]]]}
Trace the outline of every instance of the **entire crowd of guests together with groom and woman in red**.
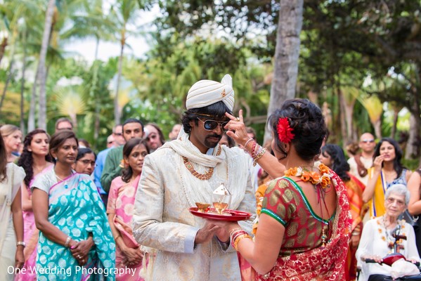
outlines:
{"label": "entire crowd of guests together with groom and woman in red", "polygon": [[[273,112],[259,145],[234,102],[228,74],[197,81],[167,140],[159,124],[129,118],[98,154],[66,118],[23,142],[2,125],[0,280],[419,275],[421,169],[403,166],[399,143],[363,133],[346,159],[320,108],[297,98]],[[190,214],[220,186],[250,218]]]}

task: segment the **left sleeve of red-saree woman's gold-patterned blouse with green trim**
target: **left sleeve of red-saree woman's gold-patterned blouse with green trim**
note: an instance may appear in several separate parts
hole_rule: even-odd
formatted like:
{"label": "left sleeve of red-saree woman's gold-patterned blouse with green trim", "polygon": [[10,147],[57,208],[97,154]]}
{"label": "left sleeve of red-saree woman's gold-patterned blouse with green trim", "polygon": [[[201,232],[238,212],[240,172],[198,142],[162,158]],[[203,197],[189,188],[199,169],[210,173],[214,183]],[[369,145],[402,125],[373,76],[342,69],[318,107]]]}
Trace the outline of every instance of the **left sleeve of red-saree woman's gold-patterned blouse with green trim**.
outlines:
{"label": "left sleeve of red-saree woman's gold-patterned blouse with green trim", "polygon": [[286,226],[297,210],[294,202],[294,191],[287,180],[271,181],[264,195],[261,214],[267,214]]}

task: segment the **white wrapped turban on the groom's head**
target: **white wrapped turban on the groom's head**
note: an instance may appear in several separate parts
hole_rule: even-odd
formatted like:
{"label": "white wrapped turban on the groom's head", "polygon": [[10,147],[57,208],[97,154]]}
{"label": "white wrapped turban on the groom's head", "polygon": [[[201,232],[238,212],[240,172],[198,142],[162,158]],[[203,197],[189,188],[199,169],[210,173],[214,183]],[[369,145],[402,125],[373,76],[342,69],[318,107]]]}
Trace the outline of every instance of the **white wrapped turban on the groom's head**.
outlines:
{"label": "white wrapped turban on the groom's head", "polygon": [[197,81],[188,90],[186,108],[199,108],[223,101],[229,110],[234,107],[233,79],[225,74],[221,83],[212,80]]}

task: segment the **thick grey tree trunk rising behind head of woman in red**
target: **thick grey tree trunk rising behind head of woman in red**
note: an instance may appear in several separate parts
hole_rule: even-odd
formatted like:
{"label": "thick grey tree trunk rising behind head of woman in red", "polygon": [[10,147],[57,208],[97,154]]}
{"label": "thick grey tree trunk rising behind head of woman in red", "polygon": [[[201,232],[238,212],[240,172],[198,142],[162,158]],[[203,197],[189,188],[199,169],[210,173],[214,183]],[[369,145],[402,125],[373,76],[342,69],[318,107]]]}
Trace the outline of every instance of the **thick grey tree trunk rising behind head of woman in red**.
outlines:
{"label": "thick grey tree trunk rising behind head of woman in red", "polygon": [[[268,117],[287,99],[295,97],[297,86],[299,34],[302,29],[304,0],[280,0],[276,34],[275,67]],[[271,138],[268,126],[264,141]]]}

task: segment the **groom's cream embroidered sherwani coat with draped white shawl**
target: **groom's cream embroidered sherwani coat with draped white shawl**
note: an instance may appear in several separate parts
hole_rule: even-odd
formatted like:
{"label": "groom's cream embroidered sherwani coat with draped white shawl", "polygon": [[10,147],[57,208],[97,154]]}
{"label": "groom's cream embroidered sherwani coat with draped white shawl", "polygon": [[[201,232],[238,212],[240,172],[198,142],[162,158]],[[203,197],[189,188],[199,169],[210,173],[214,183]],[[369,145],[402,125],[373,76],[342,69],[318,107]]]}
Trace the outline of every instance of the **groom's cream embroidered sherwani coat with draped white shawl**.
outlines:
{"label": "groom's cream embroidered sherwani coat with draped white shawl", "polygon": [[[212,178],[195,178],[179,153],[188,157],[200,174],[214,166]],[[188,208],[195,207],[195,202],[212,203],[213,190],[224,183],[232,195],[230,209],[254,214],[251,168],[250,157],[239,148],[224,145],[219,156],[202,155],[186,136],[145,157],[136,193],[133,232],[140,244],[157,249],[151,280],[241,280],[237,253],[231,246],[225,251],[214,237],[194,249],[195,235],[205,219],[193,216]],[[240,222],[248,233],[253,219]]]}

